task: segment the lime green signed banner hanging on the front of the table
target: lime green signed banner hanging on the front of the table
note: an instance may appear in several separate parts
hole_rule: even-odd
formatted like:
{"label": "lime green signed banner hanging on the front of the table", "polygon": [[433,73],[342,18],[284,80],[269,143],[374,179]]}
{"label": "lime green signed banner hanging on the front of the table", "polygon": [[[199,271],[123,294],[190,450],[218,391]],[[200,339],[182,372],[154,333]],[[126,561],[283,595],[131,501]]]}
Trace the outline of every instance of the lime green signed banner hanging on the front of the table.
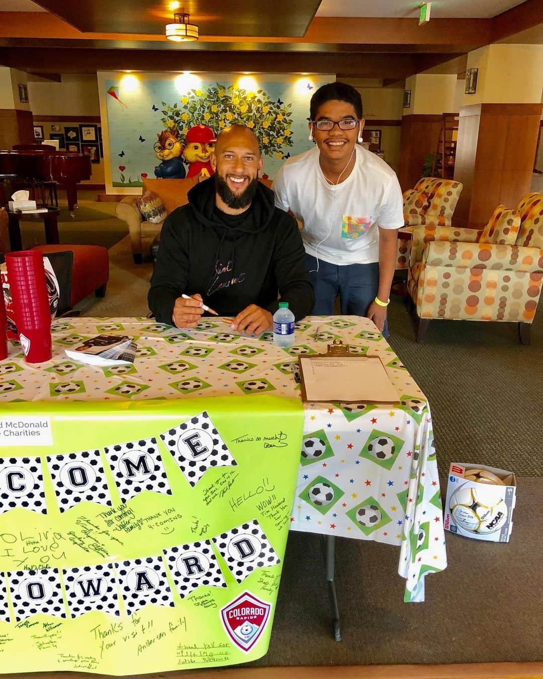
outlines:
{"label": "lime green signed banner hanging on the front of the table", "polygon": [[264,655],[302,428],[266,395],[3,405],[0,672]]}

